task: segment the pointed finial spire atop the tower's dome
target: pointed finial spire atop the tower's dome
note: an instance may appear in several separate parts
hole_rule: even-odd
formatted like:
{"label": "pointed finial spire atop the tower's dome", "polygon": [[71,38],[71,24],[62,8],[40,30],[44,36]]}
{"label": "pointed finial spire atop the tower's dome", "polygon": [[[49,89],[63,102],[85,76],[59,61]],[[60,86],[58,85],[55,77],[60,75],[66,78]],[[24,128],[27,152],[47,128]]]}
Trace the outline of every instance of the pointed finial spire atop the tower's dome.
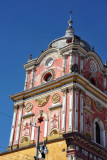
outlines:
{"label": "pointed finial spire atop the tower's dome", "polygon": [[68,21],[68,29],[66,30],[66,34],[65,34],[65,37],[73,37],[74,36],[74,30],[72,28],[72,23],[73,21],[71,20],[71,14],[72,14],[72,11],[70,11],[70,20]]}

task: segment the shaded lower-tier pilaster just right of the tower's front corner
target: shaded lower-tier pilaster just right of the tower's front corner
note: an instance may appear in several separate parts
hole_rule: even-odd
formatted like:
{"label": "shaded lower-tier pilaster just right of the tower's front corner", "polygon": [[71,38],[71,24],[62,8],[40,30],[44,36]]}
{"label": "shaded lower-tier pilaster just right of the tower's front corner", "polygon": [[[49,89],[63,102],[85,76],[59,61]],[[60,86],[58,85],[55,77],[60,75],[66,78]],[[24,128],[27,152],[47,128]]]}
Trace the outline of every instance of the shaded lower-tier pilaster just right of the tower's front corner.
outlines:
{"label": "shaded lower-tier pilaster just right of the tower's front corner", "polygon": [[75,131],[78,131],[78,91],[75,90]]}

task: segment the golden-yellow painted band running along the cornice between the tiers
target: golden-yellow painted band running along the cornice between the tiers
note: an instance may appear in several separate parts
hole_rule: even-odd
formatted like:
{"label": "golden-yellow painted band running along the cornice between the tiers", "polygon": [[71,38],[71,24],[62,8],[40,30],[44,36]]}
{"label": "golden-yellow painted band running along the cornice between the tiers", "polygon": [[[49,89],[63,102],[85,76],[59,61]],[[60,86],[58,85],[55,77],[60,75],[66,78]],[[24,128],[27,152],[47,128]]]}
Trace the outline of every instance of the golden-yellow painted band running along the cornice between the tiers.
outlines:
{"label": "golden-yellow painted band running along the cornice between the tiers", "polygon": [[21,92],[21,93],[18,93],[17,95],[14,94],[14,95],[10,96],[10,98],[13,101],[18,101],[18,100],[22,99],[23,96],[24,96],[24,98],[27,98],[29,96],[33,96],[35,94],[41,93],[41,89],[42,89],[42,92],[46,92],[49,89],[54,89],[55,87],[61,87],[62,85],[66,84],[66,83],[72,82],[73,80],[75,80],[75,78],[76,78],[76,82],[79,83],[80,85],[82,85],[85,88],[85,90],[91,92],[92,94],[97,96],[99,99],[101,99],[102,101],[107,103],[107,96],[104,95],[100,90],[94,88],[94,86],[90,85],[89,82],[86,82],[80,75],[70,75],[69,77],[64,77],[63,80],[61,80],[61,81],[58,80],[57,82],[54,83],[54,85],[53,84],[50,85],[47,83],[47,85],[45,87],[41,86],[41,87],[34,88],[33,90],[29,90],[25,93]]}

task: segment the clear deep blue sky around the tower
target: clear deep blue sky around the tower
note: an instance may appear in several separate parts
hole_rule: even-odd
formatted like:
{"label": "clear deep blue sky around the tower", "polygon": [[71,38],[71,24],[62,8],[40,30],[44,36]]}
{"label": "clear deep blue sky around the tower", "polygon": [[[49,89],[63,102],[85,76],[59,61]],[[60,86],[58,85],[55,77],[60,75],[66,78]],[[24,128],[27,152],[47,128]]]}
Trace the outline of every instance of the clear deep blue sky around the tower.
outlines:
{"label": "clear deep blue sky around the tower", "polygon": [[[65,35],[72,10],[75,34],[107,60],[107,0],[0,0],[0,152],[8,147],[13,116],[9,95],[24,88],[23,64]],[[3,114],[4,113],[4,114]]]}

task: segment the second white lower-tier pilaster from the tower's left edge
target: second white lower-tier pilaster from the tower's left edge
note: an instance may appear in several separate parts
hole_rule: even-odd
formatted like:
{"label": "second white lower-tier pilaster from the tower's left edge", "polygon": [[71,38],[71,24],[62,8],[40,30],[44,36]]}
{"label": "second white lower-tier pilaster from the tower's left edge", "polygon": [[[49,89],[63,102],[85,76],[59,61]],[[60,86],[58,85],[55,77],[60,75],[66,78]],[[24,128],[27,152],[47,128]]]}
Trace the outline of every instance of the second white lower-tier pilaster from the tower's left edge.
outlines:
{"label": "second white lower-tier pilaster from the tower's left edge", "polygon": [[23,104],[20,104],[20,105],[19,105],[19,117],[18,117],[18,124],[17,124],[17,131],[16,131],[15,144],[18,144],[18,141],[19,141],[22,109],[23,109]]}

